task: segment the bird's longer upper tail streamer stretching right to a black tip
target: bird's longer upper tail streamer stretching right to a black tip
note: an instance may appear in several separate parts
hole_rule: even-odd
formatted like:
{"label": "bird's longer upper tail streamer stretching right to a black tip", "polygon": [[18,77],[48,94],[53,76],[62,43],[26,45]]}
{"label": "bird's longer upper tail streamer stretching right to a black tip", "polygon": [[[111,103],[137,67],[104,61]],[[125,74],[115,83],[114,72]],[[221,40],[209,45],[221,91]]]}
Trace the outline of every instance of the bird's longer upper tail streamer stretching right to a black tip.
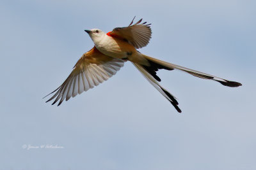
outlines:
{"label": "bird's longer upper tail streamer stretching right to a black tip", "polygon": [[[189,73],[189,74],[199,77],[199,78],[218,81],[219,83],[221,83],[222,85],[225,85],[227,87],[239,87],[242,85],[241,83],[236,82],[236,81],[225,80],[225,79],[219,78],[217,76],[212,76],[211,74],[202,73],[200,71],[196,71],[196,70],[189,69],[186,67],[178,66],[178,65],[175,65],[175,64],[172,64],[169,62],[164,62],[162,60],[154,59],[152,57],[148,57],[147,55],[143,55],[143,57],[145,57],[145,59],[148,60],[148,62],[150,63],[150,66],[157,67],[158,69],[168,69],[168,70],[179,69],[181,71],[185,71],[186,73]],[[150,70],[150,67],[148,67],[148,68]],[[156,74],[156,71],[158,69],[155,69],[154,75]],[[160,81],[160,79],[157,81]]]}

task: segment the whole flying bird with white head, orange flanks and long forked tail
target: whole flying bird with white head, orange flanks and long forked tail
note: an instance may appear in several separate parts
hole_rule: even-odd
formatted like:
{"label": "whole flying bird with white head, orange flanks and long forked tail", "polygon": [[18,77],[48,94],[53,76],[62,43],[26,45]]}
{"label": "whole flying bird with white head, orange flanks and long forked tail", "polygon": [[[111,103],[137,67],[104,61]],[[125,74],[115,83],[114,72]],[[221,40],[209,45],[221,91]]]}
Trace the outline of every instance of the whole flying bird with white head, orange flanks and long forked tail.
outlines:
{"label": "whole flying bird with white head, orange flanks and long forked tail", "polygon": [[134,18],[127,27],[116,27],[108,33],[100,29],[84,30],[92,39],[94,43],[93,48],[83,54],[68,78],[60,87],[51,92],[54,95],[46,102],[54,99],[52,104],[55,104],[60,100],[58,103],[58,106],[60,106],[64,100],[68,101],[70,97],[75,97],[77,94],[81,94],[108,80],[108,78],[115,75],[124,66],[124,62],[127,60],[134,64],[140,73],[170,101],[179,113],[181,113],[181,110],[176,98],[159,85],[159,81],[161,81],[159,76],[157,76],[159,69],[178,69],[198,78],[218,81],[227,87],[239,87],[242,85],[236,81],[225,80],[200,71],[164,62],[163,60],[154,59],[138,52],[138,48],[147,46],[152,31],[150,28],[151,24],[147,24],[147,22],[141,23],[142,19],[133,24]]}

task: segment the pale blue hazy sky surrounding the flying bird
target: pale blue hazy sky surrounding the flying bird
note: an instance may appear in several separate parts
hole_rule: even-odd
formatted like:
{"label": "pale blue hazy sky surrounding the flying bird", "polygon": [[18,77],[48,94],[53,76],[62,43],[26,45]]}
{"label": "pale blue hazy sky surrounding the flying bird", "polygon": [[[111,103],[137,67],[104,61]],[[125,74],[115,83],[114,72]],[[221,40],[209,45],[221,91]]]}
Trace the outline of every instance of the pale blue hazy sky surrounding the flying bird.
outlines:
{"label": "pale blue hazy sky surrounding the flying bird", "polygon": [[[256,169],[255,2],[1,0],[0,170]],[[243,86],[159,71],[179,114],[127,62],[61,106],[45,103],[92,48],[84,29],[135,15],[152,23],[140,52]]]}

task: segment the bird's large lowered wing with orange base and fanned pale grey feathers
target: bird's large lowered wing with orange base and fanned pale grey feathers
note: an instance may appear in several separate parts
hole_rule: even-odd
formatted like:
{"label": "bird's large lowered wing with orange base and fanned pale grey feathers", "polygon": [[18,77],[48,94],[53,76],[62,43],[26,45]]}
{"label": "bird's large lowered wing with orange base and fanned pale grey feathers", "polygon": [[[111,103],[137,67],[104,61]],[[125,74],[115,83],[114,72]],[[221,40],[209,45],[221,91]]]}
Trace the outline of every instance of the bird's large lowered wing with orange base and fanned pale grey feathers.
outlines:
{"label": "bird's large lowered wing with orange base and fanned pale grey feathers", "polygon": [[[108,80],[111,76],[124,66],[124,60],[114,59],[99,52],[95,46],[89,52],[77,61],[68,78],[54,90],[55,94],[46,102],[56,98],[52,104],[58,100],[58,106],[64,99],[68,101],[70,97],[75,97],[84,91],[92,89],[103,81]],[[48,94],[47,96],[49,96]],[[47,97],[45,96],[45,97]]]}

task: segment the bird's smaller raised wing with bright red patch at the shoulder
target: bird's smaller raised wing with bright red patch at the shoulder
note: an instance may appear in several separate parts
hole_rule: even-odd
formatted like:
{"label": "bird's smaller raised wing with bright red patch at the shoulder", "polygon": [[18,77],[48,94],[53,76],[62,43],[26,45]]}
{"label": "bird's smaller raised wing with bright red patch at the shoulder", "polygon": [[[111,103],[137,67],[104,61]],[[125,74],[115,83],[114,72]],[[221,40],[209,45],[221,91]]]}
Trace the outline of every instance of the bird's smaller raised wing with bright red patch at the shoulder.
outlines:
{"label": "bird's smaller raised wing with bright red patch at the shoulder", "polygon": [[132,25],[134,18],[128,27],[116,27],[108,34],[116,38],[125,39],[125,41],[131,43],[135,48],[142,48],[148,44],[151,38],[151,24],[147,24],[147,22],[140,24],[142,21],[141,18],[136,24]]}

